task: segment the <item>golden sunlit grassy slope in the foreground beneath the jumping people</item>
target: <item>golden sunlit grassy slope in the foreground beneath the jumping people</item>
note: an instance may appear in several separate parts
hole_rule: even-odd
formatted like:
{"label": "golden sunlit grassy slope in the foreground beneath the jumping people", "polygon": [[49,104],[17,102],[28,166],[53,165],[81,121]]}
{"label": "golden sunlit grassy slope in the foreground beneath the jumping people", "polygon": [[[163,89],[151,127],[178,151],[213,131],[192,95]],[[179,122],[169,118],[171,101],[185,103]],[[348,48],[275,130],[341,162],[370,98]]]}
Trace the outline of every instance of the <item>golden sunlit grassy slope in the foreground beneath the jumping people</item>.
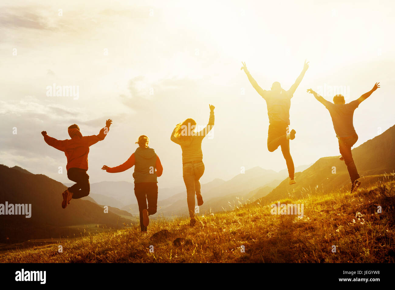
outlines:
{"label": "golden sunlit grassy slope in the foreground beneath the jumping people", "polygon": [[[158,220],[139,228],[84,234],[58,244],[0,254],[1,262],[394,262],[395,183],[384,177],[350,194],[348,189],[292,195],[281,203],[304,205],[304,216],[272,215],[257,201],[233,211]],[[377,213],[377,206],[382,213]],[[166,233],[158,236],[158,232]],[[154,252],[150,253],[150,245]],[[245,246],[245,253],[241,246]],[[336,245],[336,253],[332,253]]]}

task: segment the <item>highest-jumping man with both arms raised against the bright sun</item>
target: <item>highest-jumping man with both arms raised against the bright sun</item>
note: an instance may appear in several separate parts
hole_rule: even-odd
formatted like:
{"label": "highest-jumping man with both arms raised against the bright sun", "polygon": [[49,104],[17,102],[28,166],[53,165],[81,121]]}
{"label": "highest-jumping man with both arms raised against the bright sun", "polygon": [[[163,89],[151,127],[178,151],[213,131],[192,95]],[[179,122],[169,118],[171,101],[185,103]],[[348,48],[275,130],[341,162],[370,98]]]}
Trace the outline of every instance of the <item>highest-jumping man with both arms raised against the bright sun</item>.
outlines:
{"label": "highest-jumping man with both arms raised against the bright sun", "polygon": [[296,79],[295,84],[293,84],[288,91],[284,90],[279,82],[274,82],[271,90],[266,91],[258,85],[254,78],[252,78],[247,69],[246,63],[243,63],[241,69],[243,69],[248,76],[248,80],[252,84],[252,87],[254,87],[267,104],[267,115],[269,116],[267,149],[270,152],[273,152],[278,148],[278,146],[281,147],[281,152],[288,168],[288,175],[290,178],[289,184],[295,184],[295,166],[293,165],[290,153],[290,139],[295,139],[296,131],[289,130],[290,107],[293,93],[295,93],[296,88],[299,86],[308,69],[308,62],[305,61],[301,74]]}

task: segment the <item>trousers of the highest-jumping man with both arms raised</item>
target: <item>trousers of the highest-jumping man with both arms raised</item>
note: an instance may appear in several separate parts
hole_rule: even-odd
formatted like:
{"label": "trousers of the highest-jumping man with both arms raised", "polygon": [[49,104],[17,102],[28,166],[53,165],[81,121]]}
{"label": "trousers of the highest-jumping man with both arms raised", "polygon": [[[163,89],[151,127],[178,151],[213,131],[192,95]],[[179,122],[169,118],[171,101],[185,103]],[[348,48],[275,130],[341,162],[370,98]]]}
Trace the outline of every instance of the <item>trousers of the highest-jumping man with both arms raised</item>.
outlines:
{"label": "trousers of the highest-jumping man with both arms raised", "polygon": [[270,152],[275,151],[281,146],[281,152],[287,163],[288,175],[290,178],[295,177],[295,166],[290,153],[290,140],[287,140],[288,124],[283,122],[269,124],[269,132],[267,134],[267,149]]}

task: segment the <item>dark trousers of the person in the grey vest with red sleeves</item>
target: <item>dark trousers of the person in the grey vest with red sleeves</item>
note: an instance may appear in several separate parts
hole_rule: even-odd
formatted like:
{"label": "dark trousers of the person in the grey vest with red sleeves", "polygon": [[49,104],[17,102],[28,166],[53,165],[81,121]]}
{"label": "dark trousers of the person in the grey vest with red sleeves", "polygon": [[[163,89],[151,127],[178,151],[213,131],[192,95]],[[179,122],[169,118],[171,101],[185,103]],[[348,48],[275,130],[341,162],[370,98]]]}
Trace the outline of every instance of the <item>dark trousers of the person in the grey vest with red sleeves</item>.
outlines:
{"label": "dark trousers of the person in the grey vest with red sleeves", "polygon": [[[134,184],[134,194],[137,198],[140,212],[140,229],[147,231],[143,225],[143,210],[148,210],[148,215],[156,213],[158,203],[158,184],[156,182],[139,182]],[[148,208],[147,208],[148,201]]]}

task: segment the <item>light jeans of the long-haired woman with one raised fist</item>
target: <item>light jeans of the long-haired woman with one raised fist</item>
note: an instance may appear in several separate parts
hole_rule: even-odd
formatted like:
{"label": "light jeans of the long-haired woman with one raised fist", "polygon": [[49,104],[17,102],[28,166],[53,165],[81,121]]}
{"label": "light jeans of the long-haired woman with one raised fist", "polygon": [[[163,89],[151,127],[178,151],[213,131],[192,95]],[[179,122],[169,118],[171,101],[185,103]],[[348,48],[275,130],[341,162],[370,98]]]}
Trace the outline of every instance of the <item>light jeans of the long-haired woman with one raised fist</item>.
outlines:
{"label": "light jeans of the long-haired woman with one raised fist", "polygon": [[204,163],[202,161],[182,164],[182,178],[186,187],[186,201],[191,218],[195,216],[195,194],[201,194],[199,179],[203,173]]}

